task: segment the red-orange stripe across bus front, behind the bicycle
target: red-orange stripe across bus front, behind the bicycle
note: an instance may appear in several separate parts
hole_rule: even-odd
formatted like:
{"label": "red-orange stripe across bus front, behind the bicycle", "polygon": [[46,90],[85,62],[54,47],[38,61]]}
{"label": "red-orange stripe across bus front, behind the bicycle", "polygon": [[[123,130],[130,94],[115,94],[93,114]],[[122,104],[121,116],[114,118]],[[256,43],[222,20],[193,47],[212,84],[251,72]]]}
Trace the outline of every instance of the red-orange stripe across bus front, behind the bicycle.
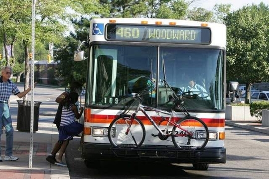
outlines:
{"label": "red-orange stripe across bus front, behind the bicycle", "polygon": [[[110,124],[113,121],[113,119],[115,119],[116,117],[118,116],[117,115],[91,114],[90,119],[88,119],[87,122]],[[140,119],[144,125],[151,125],[151,122],[145,116],[138,116],[137,118]],[[152,117],[152,118],[157,124],[161,120],[161,117]],[[178,120],[178,118],[175,118],[175,120]],[[208,127],[225,127],[225,119],[202,118],[202,120],[206,123]],[[165,125],[165,124],[166,122],[162,123],[162,125]]]}

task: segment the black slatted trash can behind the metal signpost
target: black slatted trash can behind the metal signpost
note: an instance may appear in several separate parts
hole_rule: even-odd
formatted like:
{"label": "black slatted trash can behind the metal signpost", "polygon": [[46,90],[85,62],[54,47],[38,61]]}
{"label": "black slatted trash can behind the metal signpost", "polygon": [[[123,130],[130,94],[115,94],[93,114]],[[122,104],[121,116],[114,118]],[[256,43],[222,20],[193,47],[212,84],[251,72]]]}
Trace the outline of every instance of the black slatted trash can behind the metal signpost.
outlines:
{"label": "black slatted trash can behind the metal signpost", "polygon": [[[17,100],[18,114],[17,114],[17,130],[21,132],[30,132],[31,130],[31,101]],[[39,106],[41,102],[34,101],[34,122],[33,132],[38,130]]]}

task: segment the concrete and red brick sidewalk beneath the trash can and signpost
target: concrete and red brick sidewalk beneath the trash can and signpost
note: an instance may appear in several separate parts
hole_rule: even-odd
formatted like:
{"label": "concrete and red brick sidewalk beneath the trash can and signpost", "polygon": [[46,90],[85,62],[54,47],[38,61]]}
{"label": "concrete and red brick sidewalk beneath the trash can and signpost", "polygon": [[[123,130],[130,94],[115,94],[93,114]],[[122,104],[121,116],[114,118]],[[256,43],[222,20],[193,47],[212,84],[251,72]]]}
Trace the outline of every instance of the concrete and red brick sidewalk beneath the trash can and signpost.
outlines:
{"label": "concrete and red brick sidewalk beneath the trash can and signpost", "polygon": [[[58,130],[55,124],[39,122],[38,131],[34,132],[32,136],[29,132],[16,130],[16,122],[13,122],[13,127],[15,129],[13,155],[19,160],[0,162],[0,179],[70,179],[67,167],[53,165],[46,161],[46,157],[58,140]],[[31,137],[33,150],[32,162],[30,163]],[[1,138],[1,154],[4,154],[5,134]]]}

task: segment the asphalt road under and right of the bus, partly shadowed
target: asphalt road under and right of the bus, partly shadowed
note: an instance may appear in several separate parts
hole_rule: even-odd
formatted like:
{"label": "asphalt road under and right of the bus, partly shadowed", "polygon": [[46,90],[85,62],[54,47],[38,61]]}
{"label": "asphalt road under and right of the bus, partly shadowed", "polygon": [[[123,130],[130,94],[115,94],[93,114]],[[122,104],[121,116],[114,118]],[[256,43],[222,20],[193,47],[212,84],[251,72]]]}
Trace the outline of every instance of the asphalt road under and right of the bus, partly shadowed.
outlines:
{"label": "asphalt road under and right of the bus, partly shadowed", "polygon": [[79,138],[70,142],[66,160],[70,179],[269,179],[269,135],[226,126],[226,164],[195,171],[190,164],[104,163],[88,169],[80,158]]}

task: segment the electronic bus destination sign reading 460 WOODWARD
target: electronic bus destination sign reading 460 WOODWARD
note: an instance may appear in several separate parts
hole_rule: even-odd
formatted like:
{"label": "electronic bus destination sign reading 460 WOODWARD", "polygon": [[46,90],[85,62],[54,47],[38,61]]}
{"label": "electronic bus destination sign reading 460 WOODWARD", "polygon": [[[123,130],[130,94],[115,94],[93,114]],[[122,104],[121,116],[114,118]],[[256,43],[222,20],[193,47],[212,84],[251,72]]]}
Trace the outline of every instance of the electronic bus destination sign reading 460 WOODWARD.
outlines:
{"label": "electronic bus destination sign reading 460 WOODWARD", "polygon": [[209,44],[211,31],[205,27],[108,24],[110,41]]}

